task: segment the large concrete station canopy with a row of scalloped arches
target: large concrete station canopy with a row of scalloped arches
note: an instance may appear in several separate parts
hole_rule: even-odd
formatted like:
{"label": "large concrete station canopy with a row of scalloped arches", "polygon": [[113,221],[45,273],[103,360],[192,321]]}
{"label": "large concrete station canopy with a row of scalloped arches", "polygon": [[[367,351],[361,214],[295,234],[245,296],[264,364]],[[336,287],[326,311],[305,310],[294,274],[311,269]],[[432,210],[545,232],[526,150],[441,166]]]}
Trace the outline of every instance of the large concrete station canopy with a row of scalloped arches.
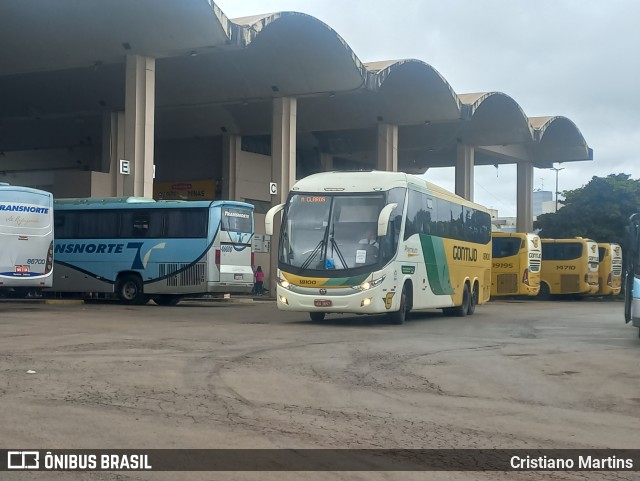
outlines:
{"label": "large concrete station canopy with a row of scalloped arches", "polygon": [[420,60],[363,64],[301,13],[229,20],[207,0],[6,0],[0,15],[11,19],[0,31],[11,46],[0,52],[2,152],[99,145],[103,116],[124,109],[126,56],[143,55],[156,59],[156,141],[270,134],[273,99],[294,96],[298,132],[336,156],[369,162],[377,126],[398,125],[401,170],[454,165],[460,143],[476,164],[593,158],[564,117],[528,119],[499,92],[458,95]]}

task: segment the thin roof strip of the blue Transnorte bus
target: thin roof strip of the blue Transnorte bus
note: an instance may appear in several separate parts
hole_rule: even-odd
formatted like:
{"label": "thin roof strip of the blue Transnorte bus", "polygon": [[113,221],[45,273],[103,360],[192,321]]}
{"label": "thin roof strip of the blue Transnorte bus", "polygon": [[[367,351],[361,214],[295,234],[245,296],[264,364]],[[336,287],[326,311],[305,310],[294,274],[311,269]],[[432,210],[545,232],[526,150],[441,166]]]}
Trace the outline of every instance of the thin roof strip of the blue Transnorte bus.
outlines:
{"label": "thin roof strip of the blue Transnorte bus", "polygon": [[92,197],[55,199],[57,210],[76,209],[171,209],[176,207],[210,208],[222,205],[253,210],[253,205],[235,200],[153,200],[147,197]]}

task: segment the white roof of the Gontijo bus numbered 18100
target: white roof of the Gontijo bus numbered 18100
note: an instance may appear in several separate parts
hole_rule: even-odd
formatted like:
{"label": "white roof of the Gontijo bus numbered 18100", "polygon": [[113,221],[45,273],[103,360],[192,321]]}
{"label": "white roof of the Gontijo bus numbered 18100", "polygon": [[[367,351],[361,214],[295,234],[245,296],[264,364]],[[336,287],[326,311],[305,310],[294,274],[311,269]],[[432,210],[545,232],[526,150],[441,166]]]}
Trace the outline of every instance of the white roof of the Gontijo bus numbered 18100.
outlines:
{"label": "white roof of the Gontijo bus numbered 18100", "polygon": [[376,192],[412,185],[436,197],[448,198],[458,204],[486,210],[486,207],[471,202],[421,177],[404,172],[334,171],[313,174],[299,180],[291,188],[299,192]]}

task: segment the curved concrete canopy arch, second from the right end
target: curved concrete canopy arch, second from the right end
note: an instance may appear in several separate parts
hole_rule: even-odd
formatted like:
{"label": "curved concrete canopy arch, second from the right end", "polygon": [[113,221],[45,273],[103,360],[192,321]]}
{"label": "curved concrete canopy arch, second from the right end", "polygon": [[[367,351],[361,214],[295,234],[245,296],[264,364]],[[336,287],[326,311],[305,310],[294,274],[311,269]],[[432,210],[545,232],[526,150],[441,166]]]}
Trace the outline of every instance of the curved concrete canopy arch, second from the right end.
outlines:
{"label": "curved concrete canopy arch, second from the right end", "polygon": [[534,141],[522,107],[502,92],[461,94],[468,123],[462,140],[468,145],[506,145]]}

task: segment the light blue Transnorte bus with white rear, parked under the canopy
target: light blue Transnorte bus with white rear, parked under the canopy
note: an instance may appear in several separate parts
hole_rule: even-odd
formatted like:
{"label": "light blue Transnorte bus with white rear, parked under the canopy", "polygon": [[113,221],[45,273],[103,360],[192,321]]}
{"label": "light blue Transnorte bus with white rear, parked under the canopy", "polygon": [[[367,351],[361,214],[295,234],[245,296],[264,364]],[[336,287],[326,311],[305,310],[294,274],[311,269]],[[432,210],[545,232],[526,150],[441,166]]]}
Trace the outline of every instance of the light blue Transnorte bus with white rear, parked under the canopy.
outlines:
{"label": "light blue Transnorte bus with white rear, parked under the canopy", "polygon": [[53,292],[175,305],[253,287],[253,206],[139,197],[54,202]]}

